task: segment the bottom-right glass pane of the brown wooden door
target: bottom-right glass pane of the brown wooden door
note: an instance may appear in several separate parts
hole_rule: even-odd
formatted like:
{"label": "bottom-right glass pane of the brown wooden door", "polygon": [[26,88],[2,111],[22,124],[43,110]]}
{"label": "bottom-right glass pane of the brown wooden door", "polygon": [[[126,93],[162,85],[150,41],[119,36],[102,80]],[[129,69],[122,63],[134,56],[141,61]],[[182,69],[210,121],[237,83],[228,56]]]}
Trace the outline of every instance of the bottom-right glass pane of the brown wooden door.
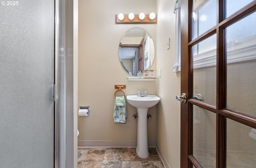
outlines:
{"label": "bottom-right glass pane of the brown wooden door", "polygon": [[256,129],[227,119],[227,168],[255,168]]}

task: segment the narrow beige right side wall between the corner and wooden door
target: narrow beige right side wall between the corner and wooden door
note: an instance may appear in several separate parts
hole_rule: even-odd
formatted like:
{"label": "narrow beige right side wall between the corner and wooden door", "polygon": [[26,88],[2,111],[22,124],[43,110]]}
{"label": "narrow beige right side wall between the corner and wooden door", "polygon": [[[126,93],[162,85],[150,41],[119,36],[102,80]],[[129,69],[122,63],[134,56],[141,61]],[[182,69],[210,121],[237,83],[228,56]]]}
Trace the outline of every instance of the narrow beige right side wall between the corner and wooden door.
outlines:
{"label": "narrow beige right side wall between the corner and wooden door", "polygon": [[[161,101],[157,105],[156,137],[157,145],[171,168],[180,167],[180,103],[175,100],[180,95],[180,73],[173,73],[176,0],[157,0],[157,69],[162,77],[157,81],[157,94]],[[166,42],[170,37],[170,49]]]}

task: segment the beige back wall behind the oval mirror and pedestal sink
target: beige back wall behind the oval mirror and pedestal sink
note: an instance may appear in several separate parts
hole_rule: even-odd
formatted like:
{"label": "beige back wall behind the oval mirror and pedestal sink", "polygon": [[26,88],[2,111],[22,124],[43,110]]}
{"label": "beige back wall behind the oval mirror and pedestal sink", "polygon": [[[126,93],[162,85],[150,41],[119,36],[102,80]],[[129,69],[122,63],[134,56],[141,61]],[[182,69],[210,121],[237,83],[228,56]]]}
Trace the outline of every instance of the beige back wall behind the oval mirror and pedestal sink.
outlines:
{"label": "beige back wall behind the oval mirror and pedestal sink", "polygon": [[[136,4],[136,5],[135,5]],[[126,124],[114,124],[115,84],[126,84],[126,95],[147,90],[156,94],[156,81],[128,81],[121,66],[118,46],[132,27],[148,31],[156,43],[156,24],[115,24],[119,13],[156,12],[155,0],[79,0],[78,1],[78,106],[90,106],[90,116],[78,116],[79,141],[136,141],[136,108],[127,103]],[[156,61],[153,64],[156,68]],[[122,95],[122,92],[118,92]],[[156,107],[148,112],[148,140],[156,141]]]}

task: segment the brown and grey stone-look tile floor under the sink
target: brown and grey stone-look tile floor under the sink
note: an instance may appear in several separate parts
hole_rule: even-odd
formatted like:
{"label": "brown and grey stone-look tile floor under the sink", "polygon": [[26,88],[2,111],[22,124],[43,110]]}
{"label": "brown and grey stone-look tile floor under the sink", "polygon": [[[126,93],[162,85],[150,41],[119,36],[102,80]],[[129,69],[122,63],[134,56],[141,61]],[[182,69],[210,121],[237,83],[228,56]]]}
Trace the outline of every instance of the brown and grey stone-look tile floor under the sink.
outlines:
{"label": "brown and grey stone-look tile floor under the sink", "polygon": [[78,148],[78,168],[164,168],[156,148],[139,158],[136,148]]}

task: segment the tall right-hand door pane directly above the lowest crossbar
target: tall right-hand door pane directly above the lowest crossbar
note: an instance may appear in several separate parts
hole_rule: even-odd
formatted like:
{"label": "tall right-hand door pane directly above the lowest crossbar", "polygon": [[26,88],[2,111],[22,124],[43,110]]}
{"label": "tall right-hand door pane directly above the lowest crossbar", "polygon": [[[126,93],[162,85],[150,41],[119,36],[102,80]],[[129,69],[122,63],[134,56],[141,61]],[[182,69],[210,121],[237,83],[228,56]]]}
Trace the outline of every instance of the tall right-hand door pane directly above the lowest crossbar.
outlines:
{"label": "tall right-hand door pane directly above the lowest crossbar", "polygon": [[[226,28],[226,108],[256,116],[256,12]],[[246,31],[244,30],[246,28]]]}

